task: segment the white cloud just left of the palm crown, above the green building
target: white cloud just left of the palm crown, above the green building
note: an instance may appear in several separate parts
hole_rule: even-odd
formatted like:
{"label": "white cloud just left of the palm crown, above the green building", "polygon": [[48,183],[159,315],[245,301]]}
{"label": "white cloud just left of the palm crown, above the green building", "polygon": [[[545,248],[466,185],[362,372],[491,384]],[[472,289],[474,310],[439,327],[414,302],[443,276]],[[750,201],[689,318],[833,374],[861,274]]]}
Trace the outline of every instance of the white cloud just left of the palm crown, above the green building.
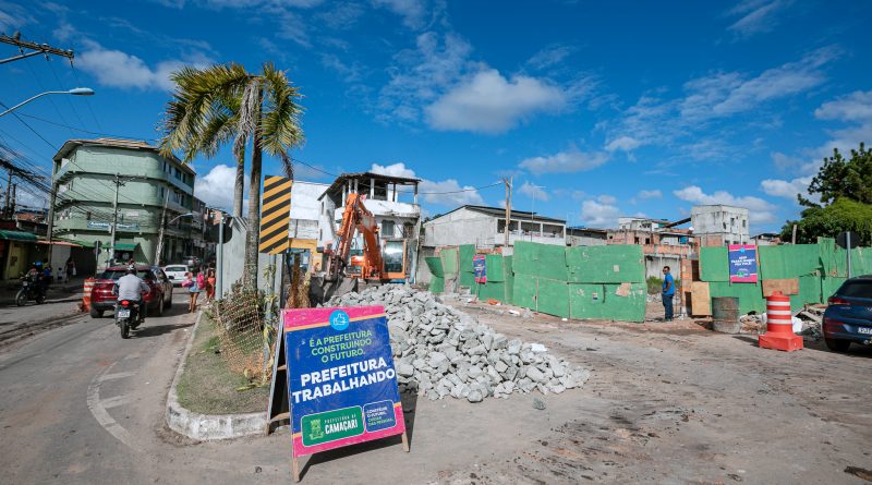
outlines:
{"label": "white cloud just left of the palm crown, above the green building", "polygon": [[137,89],[172,90],[174,85],[170,74],[185,64],[203,65],[209,60],[196,54],[190,62],[168,60],[148,66],[142,59],[120,50],[105,49],[99,44],[86,41],[87,50],[82,52],[76,64],[89,72],[104,86]]}

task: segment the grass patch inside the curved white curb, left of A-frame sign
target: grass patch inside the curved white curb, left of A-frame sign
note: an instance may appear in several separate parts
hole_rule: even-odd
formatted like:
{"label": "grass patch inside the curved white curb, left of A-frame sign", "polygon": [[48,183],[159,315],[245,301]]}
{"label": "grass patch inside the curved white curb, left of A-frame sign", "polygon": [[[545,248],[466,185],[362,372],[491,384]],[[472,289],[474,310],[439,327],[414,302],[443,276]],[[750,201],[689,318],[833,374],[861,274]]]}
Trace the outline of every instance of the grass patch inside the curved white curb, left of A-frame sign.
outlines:
{"label": "grass patch inside the curved white curb, left of A-frame sign", "polygon": [[203,414],[265,412],[269,386],[238,391],[249,384],[249,379],[230,372],[219,351],[215,325],[204,314],[175,388],[179,403]]}

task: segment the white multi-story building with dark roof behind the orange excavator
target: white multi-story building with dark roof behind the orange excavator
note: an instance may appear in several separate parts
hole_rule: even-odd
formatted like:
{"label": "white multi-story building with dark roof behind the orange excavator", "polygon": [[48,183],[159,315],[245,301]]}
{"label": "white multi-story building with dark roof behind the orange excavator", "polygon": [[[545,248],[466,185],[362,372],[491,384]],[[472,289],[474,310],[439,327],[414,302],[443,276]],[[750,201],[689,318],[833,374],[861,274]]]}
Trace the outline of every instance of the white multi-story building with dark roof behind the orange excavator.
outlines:
{"label": "white multi-story building with dark roof behind the orange excavator", "polygon": [[[419,179],[372,172],[339,175],[319,197],[318,251],[335,243],[348,195],[365,195],[364,205],[373,213],[378,225],[386,266],[390,265],[390,270],[396,272],[403,268],[407,280],[413,279],[421,231],[421,207],[417,205],[420,182]],[[293,198],[291,209],[293,210]],[[291,233],[293,234],[293,229]],[[363,238],[358,235],[352,244],[352,254],[362,252],[362,248]],[[396,257],[403,251],[404,260]]]}

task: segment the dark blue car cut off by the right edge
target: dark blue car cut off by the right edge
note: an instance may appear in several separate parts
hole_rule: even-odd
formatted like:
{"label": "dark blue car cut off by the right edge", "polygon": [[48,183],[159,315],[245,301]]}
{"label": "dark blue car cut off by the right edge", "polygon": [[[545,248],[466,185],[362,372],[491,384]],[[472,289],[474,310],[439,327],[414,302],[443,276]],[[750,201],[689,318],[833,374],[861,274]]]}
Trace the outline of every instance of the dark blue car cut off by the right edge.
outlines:
{"label": "dark blue car cut off by the right edge", "polygon": [[872,275],[845,281],[824,312],[824,341],[829,350],[845,352],[851,342],[872,343]]}

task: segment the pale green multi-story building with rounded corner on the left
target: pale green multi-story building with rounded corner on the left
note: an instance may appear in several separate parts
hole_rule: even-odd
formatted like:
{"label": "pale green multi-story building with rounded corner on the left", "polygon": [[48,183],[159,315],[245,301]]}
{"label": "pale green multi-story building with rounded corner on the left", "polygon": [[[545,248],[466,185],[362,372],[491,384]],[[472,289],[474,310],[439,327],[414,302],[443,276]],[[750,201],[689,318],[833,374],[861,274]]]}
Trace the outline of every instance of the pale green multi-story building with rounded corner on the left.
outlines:
{"label": "pale green multi-story building with rounded corner on the left", "polygon": [[164,231],[161,260],[180,259],[194,250],[192,218],[177,216],[193,209],[195,175],[191,167],[145,142],[70,140],[53,157],[52,234],[110,248],[116,223],[116,259],[153,263],[166,214],[172,223]]}

